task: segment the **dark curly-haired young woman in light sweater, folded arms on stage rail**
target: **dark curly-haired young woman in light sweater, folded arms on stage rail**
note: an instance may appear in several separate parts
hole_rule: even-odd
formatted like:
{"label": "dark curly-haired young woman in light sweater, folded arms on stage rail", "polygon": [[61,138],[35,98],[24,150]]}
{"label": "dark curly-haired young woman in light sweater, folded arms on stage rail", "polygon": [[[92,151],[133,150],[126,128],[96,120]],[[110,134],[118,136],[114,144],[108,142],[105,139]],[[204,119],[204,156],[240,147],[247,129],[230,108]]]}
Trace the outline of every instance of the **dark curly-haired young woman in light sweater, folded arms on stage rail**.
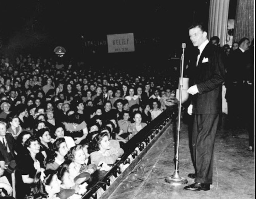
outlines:
{"label": "dark curly-haired young woman in light sweater, folded arms on stage rail", "polygon": [[122,148],[111,147],[109,141],[109,132],[104,130],[100,134],[96,135],[89,146],[92,153],[90,153],[91,163],[99,165],[101,163],[114,164],[118,157],[123,154]]}

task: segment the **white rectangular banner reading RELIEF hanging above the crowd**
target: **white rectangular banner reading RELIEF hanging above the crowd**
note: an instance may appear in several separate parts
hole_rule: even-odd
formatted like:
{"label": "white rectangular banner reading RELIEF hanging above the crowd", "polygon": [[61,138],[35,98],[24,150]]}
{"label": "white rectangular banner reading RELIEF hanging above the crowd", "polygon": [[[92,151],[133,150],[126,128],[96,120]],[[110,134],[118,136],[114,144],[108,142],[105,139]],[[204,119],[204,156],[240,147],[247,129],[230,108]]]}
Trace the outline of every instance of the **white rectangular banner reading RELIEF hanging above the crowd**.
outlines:
{"label": "white rectangular banner reading RELIEF hanging above the crowd", "polygon": [[133,33],[107,35],[107,39],[109,53],[135,51]]}

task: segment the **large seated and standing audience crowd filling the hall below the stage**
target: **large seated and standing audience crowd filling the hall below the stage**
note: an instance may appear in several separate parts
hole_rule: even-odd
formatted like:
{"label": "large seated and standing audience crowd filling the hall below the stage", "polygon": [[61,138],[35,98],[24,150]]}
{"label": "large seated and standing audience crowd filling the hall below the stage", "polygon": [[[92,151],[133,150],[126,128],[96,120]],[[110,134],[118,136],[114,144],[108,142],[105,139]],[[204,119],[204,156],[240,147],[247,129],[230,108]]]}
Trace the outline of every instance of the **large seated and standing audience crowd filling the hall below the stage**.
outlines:
{"label": "large seated and standing audience crowd filling the hall below the stage", "polygon": [[16,198],[85,193],[91,174],[109,170],[128,140],[177,104],[178,78],[164,71],[138,76],[79,65],[2,57],[2,194],[11,194],[14,171]]}

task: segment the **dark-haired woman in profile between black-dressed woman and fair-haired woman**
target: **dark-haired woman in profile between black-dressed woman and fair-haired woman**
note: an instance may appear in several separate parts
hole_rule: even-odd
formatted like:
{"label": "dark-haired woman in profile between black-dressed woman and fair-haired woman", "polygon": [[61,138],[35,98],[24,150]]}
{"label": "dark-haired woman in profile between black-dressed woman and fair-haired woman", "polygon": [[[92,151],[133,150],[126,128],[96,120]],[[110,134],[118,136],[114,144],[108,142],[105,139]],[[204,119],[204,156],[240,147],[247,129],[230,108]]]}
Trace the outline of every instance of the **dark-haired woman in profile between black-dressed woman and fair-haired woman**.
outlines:
{"label": "dark-haired woman in profile between black-dressed woman and fair-haired woman", "polygon": [[68,153],[67,143],[64,138],[58,138],[52,144],[49,156],[47,156],[47,164],[45,169],[56,170],[64,163],[65,155]]}

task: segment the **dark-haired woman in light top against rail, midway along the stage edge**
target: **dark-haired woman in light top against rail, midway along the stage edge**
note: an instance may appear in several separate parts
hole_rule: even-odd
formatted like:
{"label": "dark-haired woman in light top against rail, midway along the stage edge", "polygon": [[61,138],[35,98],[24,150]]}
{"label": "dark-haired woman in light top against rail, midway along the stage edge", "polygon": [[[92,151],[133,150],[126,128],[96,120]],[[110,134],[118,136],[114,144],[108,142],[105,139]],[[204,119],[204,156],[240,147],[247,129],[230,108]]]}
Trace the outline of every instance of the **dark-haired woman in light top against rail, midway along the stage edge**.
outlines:
{"label": "dark-haired woman in light top against rail, midway along the stage edge", "polygon": [[135,111],[133,112],[133,120],[134,123],[131,123],[128,126],[128,132],[130,135],[128,136],[128,139],[131,139],[133,136],[135,136],[142,128],[147,126],[146,123],[142,122],[141,112]]}

